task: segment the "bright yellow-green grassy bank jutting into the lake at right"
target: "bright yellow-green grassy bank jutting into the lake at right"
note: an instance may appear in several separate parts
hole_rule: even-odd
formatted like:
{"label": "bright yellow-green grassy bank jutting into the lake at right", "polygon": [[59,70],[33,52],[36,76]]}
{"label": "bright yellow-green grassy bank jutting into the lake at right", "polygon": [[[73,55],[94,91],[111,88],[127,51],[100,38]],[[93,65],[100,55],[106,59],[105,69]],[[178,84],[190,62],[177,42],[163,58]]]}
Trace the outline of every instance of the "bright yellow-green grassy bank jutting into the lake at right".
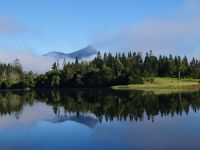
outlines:
{"label": "bright yellow-green grassy bank jutting into the lake at right", "polygon": [[169,94],[177,92],[189,92],[199,90],[200,83],[198,79],[178,79],[178,78],[155,78],[153,83],[131,84],[113,86],[115,90],[143,90],[152,91],[156,94]]}

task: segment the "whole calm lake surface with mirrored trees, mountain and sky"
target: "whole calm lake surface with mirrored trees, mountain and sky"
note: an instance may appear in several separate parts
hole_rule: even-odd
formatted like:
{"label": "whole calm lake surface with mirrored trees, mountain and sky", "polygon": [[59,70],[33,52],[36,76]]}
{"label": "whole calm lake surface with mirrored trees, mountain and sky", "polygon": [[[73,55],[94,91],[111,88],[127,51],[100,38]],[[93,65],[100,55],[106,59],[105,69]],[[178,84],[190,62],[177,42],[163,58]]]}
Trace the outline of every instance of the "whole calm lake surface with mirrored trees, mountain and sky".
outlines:
{"label": "whole calm lake surface with mirrored trees, mountain and sky", "polygon": [[200,149],[200,92],[0,92],[0,149]]}

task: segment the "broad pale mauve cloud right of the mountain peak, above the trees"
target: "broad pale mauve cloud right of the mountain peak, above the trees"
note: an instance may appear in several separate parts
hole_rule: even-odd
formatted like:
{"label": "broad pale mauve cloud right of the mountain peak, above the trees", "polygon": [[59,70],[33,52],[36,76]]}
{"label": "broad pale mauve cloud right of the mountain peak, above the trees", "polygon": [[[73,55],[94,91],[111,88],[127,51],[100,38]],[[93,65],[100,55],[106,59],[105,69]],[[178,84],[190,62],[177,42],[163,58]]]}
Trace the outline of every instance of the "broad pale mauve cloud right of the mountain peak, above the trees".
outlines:
{"label": "broad pale mauve cloud right of the mountain peak, above the trees", "polygon": [[[114,52],[136,50],[155,54],[200,54],[200,1],[186,0],[173,16],[146,18],[115,33],[98,32],[92,37],[94,46]],[[106,34],[104,34],[106,33]]]}

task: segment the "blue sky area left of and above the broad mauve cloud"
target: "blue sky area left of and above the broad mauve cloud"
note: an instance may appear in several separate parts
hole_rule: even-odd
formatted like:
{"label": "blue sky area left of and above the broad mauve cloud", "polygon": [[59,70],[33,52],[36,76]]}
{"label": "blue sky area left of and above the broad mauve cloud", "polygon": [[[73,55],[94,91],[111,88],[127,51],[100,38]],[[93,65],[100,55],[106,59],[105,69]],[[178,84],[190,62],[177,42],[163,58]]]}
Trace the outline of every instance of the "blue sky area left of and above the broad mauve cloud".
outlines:
{"label": "blue sky area left of and above the broad mauve cloud", "polygon": [[142,47],[132,47],[129,43],[126,45],[127,41],[123,40],[120,40],[123,44],[117,45],[119,40],[114,39],[118,39],[122,30],[129,30],[140,24],[142,26],[144,20],[157,22],[157,18],[173,18],[186,2],[187,0],[1,0],[0,48],[29,50],[37,54],[53,50],[71,52],[88,44],[107,51],[120,51],[122,48],[140,50]]}

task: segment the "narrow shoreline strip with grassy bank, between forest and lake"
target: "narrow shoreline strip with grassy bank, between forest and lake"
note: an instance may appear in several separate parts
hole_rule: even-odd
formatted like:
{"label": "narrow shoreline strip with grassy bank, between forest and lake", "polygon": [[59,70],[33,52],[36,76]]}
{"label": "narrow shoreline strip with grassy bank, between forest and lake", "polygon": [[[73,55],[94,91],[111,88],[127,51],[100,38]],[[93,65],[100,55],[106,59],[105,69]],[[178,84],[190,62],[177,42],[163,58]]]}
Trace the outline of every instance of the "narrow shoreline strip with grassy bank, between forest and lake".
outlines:
{"label": "narrow shoreline strip with grassy bank, between forest and lake", "polygon": [[198,79],[192,78],[170,78],[170,77],[156,77],[153,83],[144,82],[144,84],[130,84],[130,85],[115,85],[111,87],[82,87],[82,88],[26,88],[26,89],[0,89],[4,91],[49,91],[49,90],[123,90],[123,91],[143,91],[153,92],[155,94],[171,94],[181,92],[194,92],[200,90],[200,83]]}

